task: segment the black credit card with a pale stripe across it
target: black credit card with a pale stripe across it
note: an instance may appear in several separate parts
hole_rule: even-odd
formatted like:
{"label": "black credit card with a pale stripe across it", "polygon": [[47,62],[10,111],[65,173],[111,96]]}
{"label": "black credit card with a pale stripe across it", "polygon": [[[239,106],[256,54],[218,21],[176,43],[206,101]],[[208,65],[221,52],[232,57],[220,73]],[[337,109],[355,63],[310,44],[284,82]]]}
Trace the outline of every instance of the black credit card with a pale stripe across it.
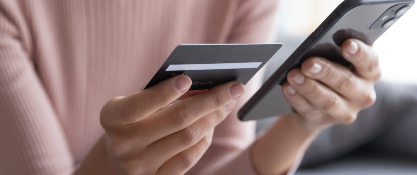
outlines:
{"label": "black credit card with a pale stripe across it", "polygon": [[149,88],[185,74],[190,90],[205,90],[229,81],[246,84],[282,44],[182,44],[178,45],[149,81]]}

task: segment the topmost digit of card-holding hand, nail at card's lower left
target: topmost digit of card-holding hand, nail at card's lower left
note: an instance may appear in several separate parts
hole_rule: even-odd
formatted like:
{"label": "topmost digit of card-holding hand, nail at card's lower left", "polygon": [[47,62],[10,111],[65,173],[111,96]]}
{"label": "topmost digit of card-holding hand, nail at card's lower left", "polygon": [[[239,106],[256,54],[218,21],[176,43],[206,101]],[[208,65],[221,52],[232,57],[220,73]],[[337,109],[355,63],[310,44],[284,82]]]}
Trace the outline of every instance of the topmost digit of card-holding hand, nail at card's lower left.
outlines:
{"label": "topmost digit of card-holding hand, nail at card's lower left", "polygon": [[188,76],[178,75],[130,96],[118,98],[111,102],[112,107],[101,120],[110,125],[135,123],[175,101],[190,88],[191,83]]}

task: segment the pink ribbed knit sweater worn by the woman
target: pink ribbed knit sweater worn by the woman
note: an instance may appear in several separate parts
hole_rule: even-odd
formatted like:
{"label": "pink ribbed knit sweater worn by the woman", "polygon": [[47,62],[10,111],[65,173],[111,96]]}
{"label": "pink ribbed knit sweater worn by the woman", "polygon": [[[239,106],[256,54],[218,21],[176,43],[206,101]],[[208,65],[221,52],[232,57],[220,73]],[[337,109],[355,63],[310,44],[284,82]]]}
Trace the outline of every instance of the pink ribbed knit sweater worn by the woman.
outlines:
{"label": "pink ribbed knit sweater worn by the woman", "polygon": [[[178,44],[270,42],[276,7],[277,0],[0,0],[0,174],[73,172],[103,135],[99,112],[110,98],[143,88]],[[244,98],[253,89],[249,83]],[[254,124],[233,112],[189,173],[253,174]]]}

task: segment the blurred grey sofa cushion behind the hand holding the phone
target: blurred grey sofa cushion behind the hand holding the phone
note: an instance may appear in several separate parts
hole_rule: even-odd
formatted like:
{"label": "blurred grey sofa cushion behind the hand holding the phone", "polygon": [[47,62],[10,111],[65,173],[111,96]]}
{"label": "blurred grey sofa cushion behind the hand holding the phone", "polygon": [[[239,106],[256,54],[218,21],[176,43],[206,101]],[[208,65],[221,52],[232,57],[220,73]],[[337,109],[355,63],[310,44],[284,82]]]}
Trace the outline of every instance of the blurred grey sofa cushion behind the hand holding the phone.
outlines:
{"label": "blurred grey sofa cushion behind the hand holding the phone", "polygon": [[374,106],[355,123],[323,130],[308,148],[302,167],[334,160],[363,146],[417,158],[417,85],[379,82]]}

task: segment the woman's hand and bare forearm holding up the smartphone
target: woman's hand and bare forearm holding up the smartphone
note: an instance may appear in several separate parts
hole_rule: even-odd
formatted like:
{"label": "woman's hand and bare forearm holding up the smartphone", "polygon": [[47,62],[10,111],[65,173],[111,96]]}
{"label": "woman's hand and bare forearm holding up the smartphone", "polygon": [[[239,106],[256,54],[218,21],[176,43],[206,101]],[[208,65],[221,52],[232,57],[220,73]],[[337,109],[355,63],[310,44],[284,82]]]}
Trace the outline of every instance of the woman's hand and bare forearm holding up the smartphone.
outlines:
{"label": "woman's hand and bare forearm holding up the smartphone", "polygon": [[381,76],[376,53],[354,39],[341,52],[351,68],[313,57],[288,73],[282,90],[297,113],[281,116],[255,143],[253,164],[260,174],[287,172],[321,129],[352,123],[375,102]]}

